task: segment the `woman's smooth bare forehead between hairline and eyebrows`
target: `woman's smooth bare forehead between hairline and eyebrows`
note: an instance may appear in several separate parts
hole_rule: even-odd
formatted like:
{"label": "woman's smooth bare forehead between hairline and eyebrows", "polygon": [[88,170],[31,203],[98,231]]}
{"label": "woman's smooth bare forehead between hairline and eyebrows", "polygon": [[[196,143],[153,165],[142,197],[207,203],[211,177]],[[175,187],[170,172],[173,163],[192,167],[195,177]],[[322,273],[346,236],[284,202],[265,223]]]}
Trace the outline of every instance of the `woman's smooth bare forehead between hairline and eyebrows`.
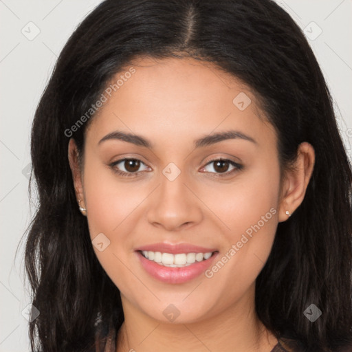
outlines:
{"label": "woman's smooth bare forehead between hairline and eyebrows", "polygon": [[109,87],[115,89],[89,126],[96,138],[113,129],[164,142],[226,129],[275,138],[250,88],[210,63],[137,58],[115,74]]}

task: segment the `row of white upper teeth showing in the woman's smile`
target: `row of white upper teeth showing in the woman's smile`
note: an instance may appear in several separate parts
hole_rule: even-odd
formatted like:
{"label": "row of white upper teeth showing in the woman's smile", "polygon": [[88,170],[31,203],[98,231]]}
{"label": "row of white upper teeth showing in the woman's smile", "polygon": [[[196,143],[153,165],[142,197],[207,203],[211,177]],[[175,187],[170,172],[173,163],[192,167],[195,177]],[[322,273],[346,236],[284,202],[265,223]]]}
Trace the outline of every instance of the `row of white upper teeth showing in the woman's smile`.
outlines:
{"label": "row of white upper teeth showing in the woman's smile", "polygon": [[150,261],[154,261],[159,265],[165,267],[185,267],[193,263],[201,262],[209,259],[212,256],[212,252],[207,253],[181,253],[181,254],[170,254],[152,251],[142,251],[143,256]]}

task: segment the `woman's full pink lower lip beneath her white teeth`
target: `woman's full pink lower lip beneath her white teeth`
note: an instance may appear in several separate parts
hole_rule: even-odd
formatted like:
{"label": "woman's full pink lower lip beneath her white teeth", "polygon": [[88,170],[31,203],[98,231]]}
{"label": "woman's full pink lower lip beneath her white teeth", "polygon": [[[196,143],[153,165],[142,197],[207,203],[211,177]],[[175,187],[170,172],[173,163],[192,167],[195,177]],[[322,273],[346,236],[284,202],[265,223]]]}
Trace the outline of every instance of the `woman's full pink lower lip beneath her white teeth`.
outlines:
{"label": "woman's full pink lower lip beneath her white teeth", "polygon": [[139,251],[135,253],[146,272],[164,283],[186,283],[192,280],[192,278],[196,278],[210,267],[210,264],[218,254],[218,252],[215,252],[209,259],[195,262],[186,267],[164,267],[155,263],[155,261],[146,259]]}

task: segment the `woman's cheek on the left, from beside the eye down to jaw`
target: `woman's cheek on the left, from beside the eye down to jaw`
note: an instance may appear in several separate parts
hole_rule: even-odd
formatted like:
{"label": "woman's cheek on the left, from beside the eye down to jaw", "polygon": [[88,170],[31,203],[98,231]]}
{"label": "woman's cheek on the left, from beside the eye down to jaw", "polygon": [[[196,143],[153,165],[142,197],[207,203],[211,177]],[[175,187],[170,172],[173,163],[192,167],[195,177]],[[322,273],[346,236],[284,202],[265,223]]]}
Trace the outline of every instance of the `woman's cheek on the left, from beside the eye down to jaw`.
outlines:
{"label": "woman's cheek on the left, from beside the eye down to jaw", "polygon": [[[89,234],[104,271],[124,292],[135,282],[124,263],[131,254],[135,209],[142,201],[139,192],[126,187],[112,170],[94,159],[87,159],[84,173],[85,203]],[[99,238],[99,241],[96,239]],[[102,251],[95,242],[103,243]],[[133,285],[132,285],[133,284]]]}

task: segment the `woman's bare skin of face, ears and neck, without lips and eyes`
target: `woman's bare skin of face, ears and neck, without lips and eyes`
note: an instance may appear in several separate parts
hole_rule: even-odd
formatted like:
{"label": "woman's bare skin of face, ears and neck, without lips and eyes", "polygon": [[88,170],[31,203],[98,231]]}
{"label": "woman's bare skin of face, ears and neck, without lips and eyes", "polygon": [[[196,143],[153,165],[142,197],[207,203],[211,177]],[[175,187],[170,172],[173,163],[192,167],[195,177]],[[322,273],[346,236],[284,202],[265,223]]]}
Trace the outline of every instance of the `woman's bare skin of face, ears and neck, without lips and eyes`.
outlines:
{"label": "woman's bare skin of face, ears and neck, without lips and eyes", "polygon": [[[276,132],[249,87],[191,58],[139,58],[131,66],[135,74],[87,127],[81,167],[76,144],[69,142],[76,196],[87,208],[91,239],[102,232],[110,241],[104,251],[94,250],[121,292],[125,321],[117,351],[270,352],[277,340],[256,316],[255,281],[278,222],[305,197],[314,149],[300,144],[296,170],[283,177]],[[232,102],[241,92],[252,100],[243,111]],[[256,143],[236,138],[193,145],[228,129]],[[99,144],[116,130],[142,135],[153,148],[121,140]],[[109,164],[124,157],[142,161],[135,168],[140,175],[114,173]],[[231,172],[234,167],[225,164],[227,175],[217,177],[221,169],[209,162],[220,157],[243,169]],[[181,171],[174,181],[162,173],[170,162]],[[128,165],[119,167],[126,172]],[[135,255],[135,248],[151,243],[191,243],[217,248],[220,259],[271,208],[272,218],[211,278],[201,274],[182,284],[162,283]],[[163,314],[170,303],[180,312],[173,322]]]}

